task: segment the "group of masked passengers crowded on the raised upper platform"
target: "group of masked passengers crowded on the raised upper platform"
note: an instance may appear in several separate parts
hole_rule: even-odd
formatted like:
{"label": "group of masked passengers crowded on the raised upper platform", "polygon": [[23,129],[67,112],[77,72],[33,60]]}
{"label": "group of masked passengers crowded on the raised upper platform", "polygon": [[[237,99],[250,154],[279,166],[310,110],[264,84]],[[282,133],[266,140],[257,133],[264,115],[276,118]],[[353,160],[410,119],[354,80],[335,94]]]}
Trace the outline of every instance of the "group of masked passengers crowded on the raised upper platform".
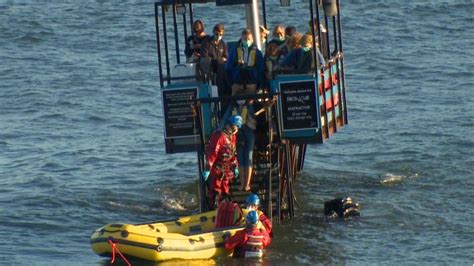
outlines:
{"label": "group of masked passengers crowded on the raised upper platform", "polygon": [[[224,24],[219,23],[213,27],[212,35],[207,35],[204,23],[196,20],[185,46],[187,62],[198,65],[199,78],[217,85],[219,96],[234,95],[242,87],[249,93],[255,87],[266,88],[275,73],[311,73],[328,59],[327,30],[322,24],[318,27],[316,19],[309,21],[305,33],[294,26],[276,25],[269,36],[270,31],[260,26],[262,49],[257,48],[249,29],[244,29],[235,45],[230,46],[223,39],[224,33]],[[321,42],[318,36],[322,37]],[[313,62],[315,53],[317,60]]]}

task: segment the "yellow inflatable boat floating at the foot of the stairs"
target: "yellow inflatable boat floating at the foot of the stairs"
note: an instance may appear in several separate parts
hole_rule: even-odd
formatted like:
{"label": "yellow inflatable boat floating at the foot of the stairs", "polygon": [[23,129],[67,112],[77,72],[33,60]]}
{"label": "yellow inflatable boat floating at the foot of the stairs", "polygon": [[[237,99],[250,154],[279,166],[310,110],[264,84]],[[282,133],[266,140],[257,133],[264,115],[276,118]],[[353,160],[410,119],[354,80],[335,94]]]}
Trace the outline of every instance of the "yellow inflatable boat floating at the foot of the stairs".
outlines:
{"label": "yellow inflatable boat floating at the foot of the stairs", "polygon": [[94,231],[90,241],[95,253],[108,257],[117,250],[126,257],[150,261],[231,255],[224,248],[224,236],[233,235],[244,226],[216,229],[215,220],[216,211],[210,211],[170,221],[107,224]]}

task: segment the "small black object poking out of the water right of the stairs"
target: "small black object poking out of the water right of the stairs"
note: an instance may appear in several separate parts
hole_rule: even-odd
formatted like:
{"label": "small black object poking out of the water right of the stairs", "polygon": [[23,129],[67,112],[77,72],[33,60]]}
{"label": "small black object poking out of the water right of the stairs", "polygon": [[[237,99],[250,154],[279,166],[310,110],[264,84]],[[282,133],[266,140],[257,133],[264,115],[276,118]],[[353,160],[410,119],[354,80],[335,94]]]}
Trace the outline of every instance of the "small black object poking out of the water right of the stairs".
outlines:
{"label": "small black object poking out of the water right of the stairs", "polygon": [[351,198],[336,198],[324,202],[324,215],[327,218],[349,218],[360,216],[360,205]]}

